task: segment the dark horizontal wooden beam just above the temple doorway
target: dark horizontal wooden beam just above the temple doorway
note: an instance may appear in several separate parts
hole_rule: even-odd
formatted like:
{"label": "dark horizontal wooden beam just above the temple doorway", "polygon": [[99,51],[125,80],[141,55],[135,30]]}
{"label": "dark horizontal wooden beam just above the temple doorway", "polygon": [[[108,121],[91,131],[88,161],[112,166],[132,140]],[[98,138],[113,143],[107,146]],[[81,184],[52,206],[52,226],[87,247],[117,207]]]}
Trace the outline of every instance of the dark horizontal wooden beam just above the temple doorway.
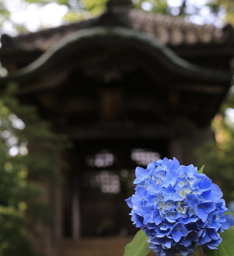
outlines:
{"label": "dark horizontal wooden beam just above the temple doorway", "polygon": [[95,138],[162,138],[191,134],[195,124],[186,119],[168,120],[164,124],[121,124],[106,123],[92,126],[58,127],[57,132],[67,134],[72,139]]}

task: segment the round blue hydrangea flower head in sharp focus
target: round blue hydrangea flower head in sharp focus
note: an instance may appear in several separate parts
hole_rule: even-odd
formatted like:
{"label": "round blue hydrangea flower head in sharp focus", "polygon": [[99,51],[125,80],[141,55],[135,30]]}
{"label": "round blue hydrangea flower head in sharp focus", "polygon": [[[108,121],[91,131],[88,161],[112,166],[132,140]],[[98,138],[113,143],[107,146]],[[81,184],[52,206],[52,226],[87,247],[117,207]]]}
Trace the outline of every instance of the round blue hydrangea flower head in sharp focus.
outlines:
{"label": "round blue hydrangea flower head in sharp focus", "polygon": [[136,168],[136,192],[126,199],[131,220],[148,236],[158,256],[192,255],[195,245],[217,250],[219,232],[234,225],[219,186],[197,167],[179,165],[176,158]]}

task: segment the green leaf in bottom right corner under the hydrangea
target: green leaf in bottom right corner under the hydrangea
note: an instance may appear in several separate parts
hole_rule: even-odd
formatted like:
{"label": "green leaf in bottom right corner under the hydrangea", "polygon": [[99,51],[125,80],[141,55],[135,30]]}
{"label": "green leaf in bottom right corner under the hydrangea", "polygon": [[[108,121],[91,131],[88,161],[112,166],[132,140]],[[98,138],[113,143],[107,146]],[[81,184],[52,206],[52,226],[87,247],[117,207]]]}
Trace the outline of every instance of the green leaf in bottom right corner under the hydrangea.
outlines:
{"label": "green leaf in bottom right corner under the hydrangea", "polygon": [[234,226],[220,234],[222,242],[218,250],[203,250],[207,256],[233,256],[234,252]]}

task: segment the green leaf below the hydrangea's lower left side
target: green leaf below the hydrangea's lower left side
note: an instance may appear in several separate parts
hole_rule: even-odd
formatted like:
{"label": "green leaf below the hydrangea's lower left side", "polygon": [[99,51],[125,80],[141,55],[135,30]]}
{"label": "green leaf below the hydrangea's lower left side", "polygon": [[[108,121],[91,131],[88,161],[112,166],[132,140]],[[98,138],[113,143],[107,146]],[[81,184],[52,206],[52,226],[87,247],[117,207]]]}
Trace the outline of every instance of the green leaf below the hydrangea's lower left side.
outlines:
{"label": "green leaf below the hydrangea's lower left side", "polygon": [[124,256],[146,256],[151,251],[147,240],[148,237],[145,232],[142,229],[139,230],[132,242],[125,246]]}

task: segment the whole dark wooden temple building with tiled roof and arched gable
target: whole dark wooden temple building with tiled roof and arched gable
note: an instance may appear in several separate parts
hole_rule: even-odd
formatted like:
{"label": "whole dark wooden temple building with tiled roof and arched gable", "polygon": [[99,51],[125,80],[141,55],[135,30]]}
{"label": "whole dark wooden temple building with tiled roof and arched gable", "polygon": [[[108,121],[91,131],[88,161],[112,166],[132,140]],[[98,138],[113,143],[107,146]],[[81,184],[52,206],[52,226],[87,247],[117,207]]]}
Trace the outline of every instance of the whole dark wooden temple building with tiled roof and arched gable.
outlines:
{"label": "whole dark wooden temple building with tiled roof and arched gable", "polygon": [[[45,252],[121,255],[117,243],[105,249],[105,237],[136,232],[124,201],[136,166],[173,156],[193,163],[193,149],[212,138],[210,120],[232,81],[232,26],[200,26],[110,0],[98,18],[2,35],[1,43],[9,72],[1,90],[17,82],[21,102],[36,105],[73,143],[66,182],[51,197]],[[94,252],[66,254],[65,238],[90,250],[90,237],[99,239]]]}

